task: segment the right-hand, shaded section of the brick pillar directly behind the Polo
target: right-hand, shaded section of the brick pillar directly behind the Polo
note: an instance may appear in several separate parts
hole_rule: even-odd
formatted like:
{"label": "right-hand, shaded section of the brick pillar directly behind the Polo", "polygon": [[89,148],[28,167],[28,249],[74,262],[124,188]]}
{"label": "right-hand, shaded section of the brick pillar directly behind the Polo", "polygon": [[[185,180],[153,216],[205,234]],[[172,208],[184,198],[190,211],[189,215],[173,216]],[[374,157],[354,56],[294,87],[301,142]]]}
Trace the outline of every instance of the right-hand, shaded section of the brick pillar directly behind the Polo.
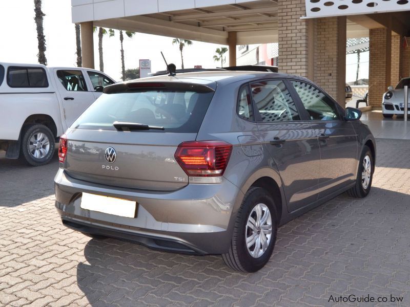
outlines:
{"label": "right-hand, shaded section of the brick pillar directly behind the Polo", "polygon": [[346,17],[316,20],[314,81],[345,106]]}

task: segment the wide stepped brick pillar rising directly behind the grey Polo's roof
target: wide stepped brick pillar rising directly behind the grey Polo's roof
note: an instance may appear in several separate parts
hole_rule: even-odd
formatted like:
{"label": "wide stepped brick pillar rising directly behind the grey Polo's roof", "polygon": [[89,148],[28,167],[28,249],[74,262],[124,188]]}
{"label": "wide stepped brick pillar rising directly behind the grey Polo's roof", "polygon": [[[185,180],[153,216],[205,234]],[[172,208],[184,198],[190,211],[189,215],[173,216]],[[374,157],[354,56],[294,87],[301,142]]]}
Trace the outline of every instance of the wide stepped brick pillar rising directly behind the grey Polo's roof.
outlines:
{"label": "wide stepped brick pillar rising directly behind the grey Polo's roof", "polygon": [[344,106],[346,17],[305,14],[304,0],[278,1],[279,71],[315,81]]}

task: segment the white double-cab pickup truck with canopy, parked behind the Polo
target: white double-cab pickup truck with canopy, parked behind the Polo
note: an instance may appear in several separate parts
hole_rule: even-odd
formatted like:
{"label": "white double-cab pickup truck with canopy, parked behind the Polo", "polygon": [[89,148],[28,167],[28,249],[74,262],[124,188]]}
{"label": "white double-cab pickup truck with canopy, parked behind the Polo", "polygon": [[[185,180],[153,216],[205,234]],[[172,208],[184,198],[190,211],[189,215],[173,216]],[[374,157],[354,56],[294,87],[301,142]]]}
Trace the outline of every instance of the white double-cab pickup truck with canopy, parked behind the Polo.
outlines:
{"label": "white double-cab pickup truck with canopy, parked behind the Polo", "polygon": [[113,83],[87,68],[0,62],[0,150],[33,166],[50,162],[58,137]]}

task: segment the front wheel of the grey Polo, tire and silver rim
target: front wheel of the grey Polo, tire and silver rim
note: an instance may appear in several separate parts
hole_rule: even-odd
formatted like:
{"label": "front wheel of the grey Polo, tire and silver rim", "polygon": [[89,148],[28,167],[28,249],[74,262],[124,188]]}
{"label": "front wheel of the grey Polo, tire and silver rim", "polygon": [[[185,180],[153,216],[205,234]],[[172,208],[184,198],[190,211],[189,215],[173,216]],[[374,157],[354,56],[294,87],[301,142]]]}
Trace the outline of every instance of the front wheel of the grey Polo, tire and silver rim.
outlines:
{"label": "front wheel of the grey Polo, tire and silver rim", "polygon": [[354,198],[364,198],[372,187],[374,158],[372,151],[367,146],[363,147],[360,156],[359,169],[357,170],[356,184],[347,193]]}

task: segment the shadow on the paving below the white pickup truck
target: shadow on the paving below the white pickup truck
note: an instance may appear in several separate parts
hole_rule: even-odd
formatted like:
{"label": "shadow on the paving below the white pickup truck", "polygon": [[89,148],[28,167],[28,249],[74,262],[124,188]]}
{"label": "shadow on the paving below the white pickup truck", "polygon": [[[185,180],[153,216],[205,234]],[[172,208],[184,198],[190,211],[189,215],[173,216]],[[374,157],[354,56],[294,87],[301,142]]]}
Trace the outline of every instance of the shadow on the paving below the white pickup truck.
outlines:
{"label": "shadow on the paving below the white pickup truck", "polygon": [[49,164],[37,167],[20,159],[6,159],[5,152],[0,152],[0,207],[16,207],[53,196],[57,170],[57,150]]}

